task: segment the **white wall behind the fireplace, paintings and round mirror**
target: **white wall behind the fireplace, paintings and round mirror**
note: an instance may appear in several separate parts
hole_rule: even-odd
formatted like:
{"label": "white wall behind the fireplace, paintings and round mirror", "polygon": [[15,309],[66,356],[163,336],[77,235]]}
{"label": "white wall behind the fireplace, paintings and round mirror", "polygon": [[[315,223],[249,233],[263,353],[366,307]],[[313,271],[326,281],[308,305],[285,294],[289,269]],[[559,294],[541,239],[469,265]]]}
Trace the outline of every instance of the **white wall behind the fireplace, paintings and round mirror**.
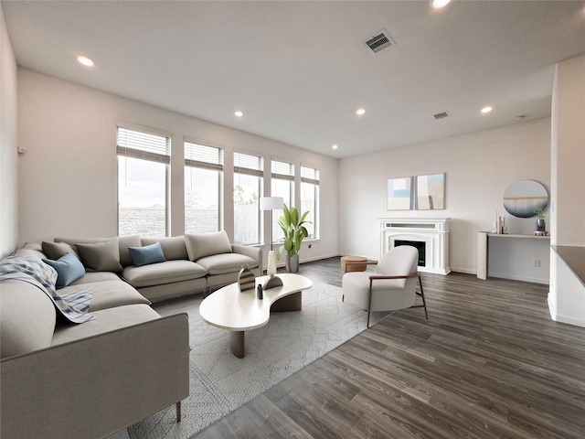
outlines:
{"label": "white wall behind the fireplace, paintings and round mirror", "polygon": [[[442,172],[446,173],[446,209],[386,209],[388,178]],[[495,210],[506,213],[505,189],[522,179],[549,187],[550,119],[341,159],[339,250],[378,259],[379,217],[451,218],[451,269],[477,273],[477,231],[492,230]],[[506,225],[509,233],[532,233],[535,219],[506,214]]]}

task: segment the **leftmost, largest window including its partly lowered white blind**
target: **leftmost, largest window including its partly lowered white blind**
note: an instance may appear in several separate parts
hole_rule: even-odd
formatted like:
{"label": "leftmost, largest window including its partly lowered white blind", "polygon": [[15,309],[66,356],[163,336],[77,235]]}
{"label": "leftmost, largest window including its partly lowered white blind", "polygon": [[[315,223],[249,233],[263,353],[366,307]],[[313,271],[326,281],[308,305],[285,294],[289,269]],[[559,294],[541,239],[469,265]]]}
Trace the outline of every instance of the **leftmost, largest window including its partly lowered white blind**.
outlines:
{"label": "leftmost, largest window including its partly lowered white blind", "polygon": [[118,235],[165,236],[170,136],[117,127]]}

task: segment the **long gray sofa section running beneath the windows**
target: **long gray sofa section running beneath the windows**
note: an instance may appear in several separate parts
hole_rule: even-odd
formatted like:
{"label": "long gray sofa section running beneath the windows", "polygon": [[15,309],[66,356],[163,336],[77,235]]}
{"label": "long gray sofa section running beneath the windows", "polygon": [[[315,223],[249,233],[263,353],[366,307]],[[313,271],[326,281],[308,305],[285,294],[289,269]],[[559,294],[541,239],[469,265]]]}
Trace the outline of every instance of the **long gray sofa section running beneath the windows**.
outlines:
{"label": "long gray sofa section running beneath the windows", "polygon": [[[162,247],[165,262],[135,266],[128,248],[152,245],[157,241]],[[108,252],[105,244],[112,245],[112,242],[117,243],[119,253]],[[151,302],[199,290],[208,291],[213,287],[236,282],[242,265],[248,265],[256,276],[261,275],[261,248],[231,244],[225,231],[172,238],[141,238],[138,235],[85,240],[55,238],[52,243],[43,242],[42,248],[49,259],[58,259],[65,252],[74,252],[82,260],[83,253],[79,254],[80,244],[103,244],[101,249],[94,252],[98,254],[93,255],[94,260],[100,261],[95,262],[89,258],[87,264],[90,266],[87,268],[91,270],[93,267],[95,270],[113,267],[113,271],[101,270],[100,275],[110,273],[110,278],[122,278]],[[28,245],[37,247],[35,244]],[[118,262],[116,267],[115,263]]]}

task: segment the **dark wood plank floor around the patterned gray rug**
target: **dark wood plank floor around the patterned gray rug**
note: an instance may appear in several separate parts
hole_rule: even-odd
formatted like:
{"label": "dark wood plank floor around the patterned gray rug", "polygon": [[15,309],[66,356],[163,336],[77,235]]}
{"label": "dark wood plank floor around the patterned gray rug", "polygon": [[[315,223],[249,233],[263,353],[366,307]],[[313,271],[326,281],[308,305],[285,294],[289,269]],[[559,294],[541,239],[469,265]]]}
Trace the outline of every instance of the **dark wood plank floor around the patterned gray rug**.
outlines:
{"label": "dark wood plank floor around the patterned gray rug", "polygon": [[[341,285],[339,258],[300,273]],[[548,285],[422,282],[429,320],[398,311],[195,437],[585,437],[585,328],[550,319]]]}

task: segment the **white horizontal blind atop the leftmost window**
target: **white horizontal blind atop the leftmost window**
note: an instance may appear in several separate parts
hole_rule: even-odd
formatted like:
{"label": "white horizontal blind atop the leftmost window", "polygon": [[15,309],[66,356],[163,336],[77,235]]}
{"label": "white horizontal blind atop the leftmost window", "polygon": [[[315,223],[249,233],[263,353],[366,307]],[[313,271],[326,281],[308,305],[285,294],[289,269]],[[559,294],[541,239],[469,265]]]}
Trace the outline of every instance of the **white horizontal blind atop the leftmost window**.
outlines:
{"label": "white horizontal blind atop the leftmost window", "polygon": [[171,138],[118,126],[116,154],[168,165],[171,163]]}

